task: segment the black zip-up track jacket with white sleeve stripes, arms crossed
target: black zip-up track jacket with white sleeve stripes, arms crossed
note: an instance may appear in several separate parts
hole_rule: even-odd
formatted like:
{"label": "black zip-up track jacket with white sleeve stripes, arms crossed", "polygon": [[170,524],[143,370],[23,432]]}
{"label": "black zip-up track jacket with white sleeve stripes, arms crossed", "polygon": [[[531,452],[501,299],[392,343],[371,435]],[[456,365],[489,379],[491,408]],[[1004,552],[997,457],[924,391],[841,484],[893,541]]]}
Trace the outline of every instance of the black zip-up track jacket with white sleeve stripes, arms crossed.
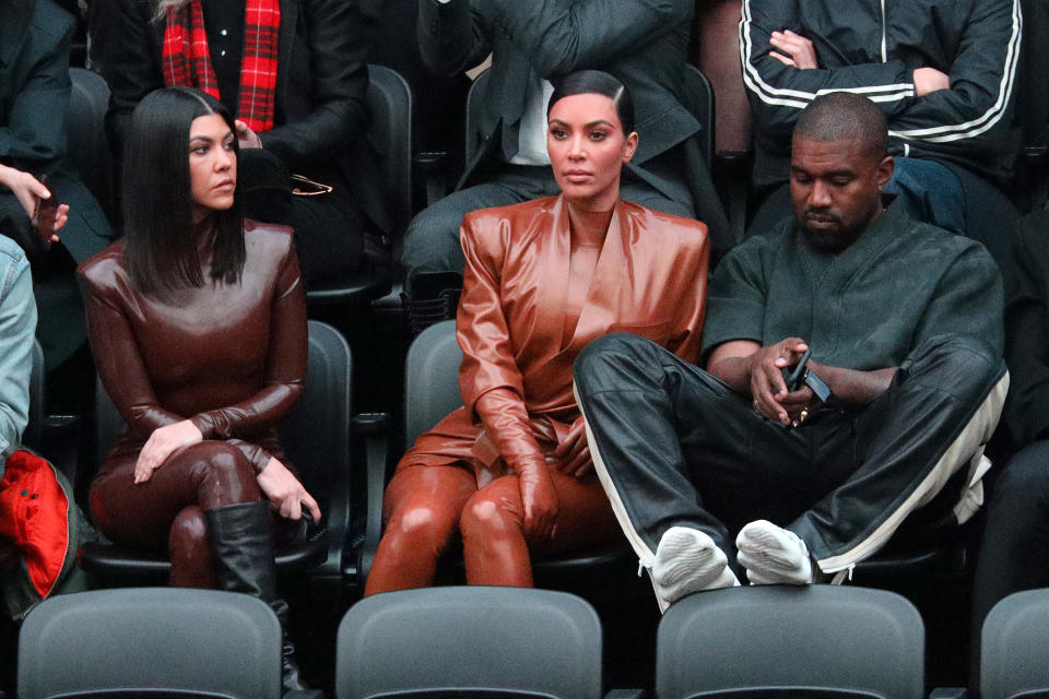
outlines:
{"label": "black zip-up track jacket with white sleeve stripes, arms crossed", "polygon": [[[893,155],[950,161],[992,179],[1016,153],[1012,96],[1019,0],[743,0],[740,51],[754,112],[754,182],[788,177],[790,133],[818,94],[856,92],[885,112]],[[818,68],[769,56],[771,32],[813,43]],[[951,88],[915,95],[914,71],[935,68]]]}

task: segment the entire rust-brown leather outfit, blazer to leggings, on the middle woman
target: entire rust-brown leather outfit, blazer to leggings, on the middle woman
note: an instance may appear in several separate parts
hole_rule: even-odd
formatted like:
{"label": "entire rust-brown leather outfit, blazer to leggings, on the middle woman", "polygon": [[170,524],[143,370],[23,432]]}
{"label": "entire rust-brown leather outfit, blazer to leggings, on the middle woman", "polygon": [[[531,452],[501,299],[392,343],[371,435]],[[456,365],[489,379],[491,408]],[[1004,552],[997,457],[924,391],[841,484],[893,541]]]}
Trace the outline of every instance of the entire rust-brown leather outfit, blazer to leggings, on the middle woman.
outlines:
{"label": "entire rust-brown leather outfit, blazer to leggings, on the middle woman", "polygon": [[[398,464],[367,594],[429,584],[456,532],[468,582],[511,585],[531,584],[529,547],[558,553],[616,536],[593,472],[576,478],[551,467],[555,533],[527,541],[518,474],[546,460],[579,419],[571,365],[588,342],[633,332],[688,360],[699,351],[708,263],[699,222],[620,201],[592,274],[573,270],[588,253],[563,197],[473,212],[460,237],[464,405]],[[570,288],[580,279],[582,293]]]}

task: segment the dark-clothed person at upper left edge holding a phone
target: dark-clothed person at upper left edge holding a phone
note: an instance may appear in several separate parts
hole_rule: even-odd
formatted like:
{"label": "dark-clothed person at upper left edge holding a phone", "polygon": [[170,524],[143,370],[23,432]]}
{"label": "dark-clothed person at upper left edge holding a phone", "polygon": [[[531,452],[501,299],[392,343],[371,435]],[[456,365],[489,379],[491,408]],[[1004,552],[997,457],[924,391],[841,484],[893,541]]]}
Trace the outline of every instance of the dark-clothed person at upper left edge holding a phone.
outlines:
{"label": "dark-clothed person at upper left edge holding a phone", "polygon": [[[87,336],[73,268],[113,237],[98,202],[66,159],[73,25],[51,0],[0,2],[0,234],[14,239],[33,265],[49,369]],[[61,241],[49,230],[39,235],[38,199],[49,200],[45,217],[54,216],[51,204],[68,205]]]}

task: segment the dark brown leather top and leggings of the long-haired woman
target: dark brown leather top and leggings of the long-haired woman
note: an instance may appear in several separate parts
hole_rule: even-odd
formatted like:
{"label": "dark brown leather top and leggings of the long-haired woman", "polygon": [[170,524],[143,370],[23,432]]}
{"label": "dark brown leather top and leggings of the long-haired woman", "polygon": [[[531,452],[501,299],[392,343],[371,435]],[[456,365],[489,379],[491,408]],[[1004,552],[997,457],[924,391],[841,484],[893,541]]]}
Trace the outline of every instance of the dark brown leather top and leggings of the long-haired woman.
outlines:
{"label": "dark brown leather top and leggings of the long-haired woman", "polygon": [[[135,289],[123,241],[78,270],[98,375],[128,426],[91,486],[94,520],[116,543],[164,550],[180,531],[200,538],[201,510],[260,499],[256,473],[284,461],[274,425],[302,393],[305,297],[290,228],[246,222],[245,245],[239,283],[211,279],[202,245],[204,284],[162,297]],[[204,441],[135,485],[145,440],[187,418]]]}

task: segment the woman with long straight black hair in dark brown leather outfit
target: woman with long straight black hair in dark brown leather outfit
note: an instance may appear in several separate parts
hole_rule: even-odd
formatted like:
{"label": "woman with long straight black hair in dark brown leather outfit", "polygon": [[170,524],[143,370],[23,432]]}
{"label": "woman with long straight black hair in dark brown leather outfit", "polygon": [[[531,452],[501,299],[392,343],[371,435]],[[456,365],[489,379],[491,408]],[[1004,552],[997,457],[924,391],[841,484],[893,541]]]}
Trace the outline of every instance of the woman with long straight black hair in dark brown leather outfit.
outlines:
{"label": "woman with long straight black hair in dark brown leather outfit", "polygon": [[[306,375],[292,230],[243,218],[234,120],[205,93],[148,95],[127,137],[125,238],[78,270],[127,424],[91,484],[94,521],[120,546],[166,552],[170,584],[251,594],[284,626],[272,510],[320,519],[276,434]],[[285,690],[303,689],[293,653],[285,642]]]}

